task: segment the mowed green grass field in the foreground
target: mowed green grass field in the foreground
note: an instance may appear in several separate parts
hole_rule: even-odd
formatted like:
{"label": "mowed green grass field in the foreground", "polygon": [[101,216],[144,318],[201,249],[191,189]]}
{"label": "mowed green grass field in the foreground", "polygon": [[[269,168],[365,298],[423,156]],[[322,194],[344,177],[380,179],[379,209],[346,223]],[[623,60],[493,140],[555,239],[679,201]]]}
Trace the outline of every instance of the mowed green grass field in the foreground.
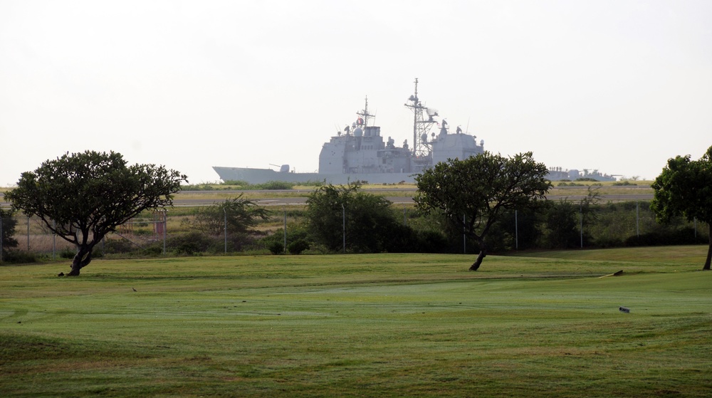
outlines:
{"label": "mowed green grass field in the foreground", "polygon": [[0,396],[710,397],[705,255],[3,266]]}

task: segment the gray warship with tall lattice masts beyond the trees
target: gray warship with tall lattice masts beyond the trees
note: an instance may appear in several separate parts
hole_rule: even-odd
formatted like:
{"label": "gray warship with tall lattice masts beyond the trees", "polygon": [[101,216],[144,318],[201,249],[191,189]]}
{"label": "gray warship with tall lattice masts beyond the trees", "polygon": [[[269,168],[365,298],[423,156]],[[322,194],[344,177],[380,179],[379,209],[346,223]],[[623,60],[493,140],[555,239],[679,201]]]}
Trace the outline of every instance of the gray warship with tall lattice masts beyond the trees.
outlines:
{"label": "gray warship with tall lattice masts beyond the trees", "polygon": [[[484,152],[484,142],[476,142],[476,136],[463,132],[458,126],[450,131],[445,119],[428,108],[418,97],[418,79],[415,92],[404,104],[413,112],[413,146],[405,140],[397,147],[395,140],[384,140],[381,127],[375,125],[375,116],[368,110],[368,98],[362,110],[356,112],[356,120],[346,125],[325,142],[319,155],[319,171],[297,173],[282,164],[279,171],[249,167],[219,167],[213,169],[225,181],[246,181],[263,184],[270,181],[327,182],[347,184],[368,182],[371,184],[396,184],[414,182],[417,174],[447,159],[466,159]],[[437,127],[434,129],[433,127]],[[436,133],[437,132],[437,133]]]}

